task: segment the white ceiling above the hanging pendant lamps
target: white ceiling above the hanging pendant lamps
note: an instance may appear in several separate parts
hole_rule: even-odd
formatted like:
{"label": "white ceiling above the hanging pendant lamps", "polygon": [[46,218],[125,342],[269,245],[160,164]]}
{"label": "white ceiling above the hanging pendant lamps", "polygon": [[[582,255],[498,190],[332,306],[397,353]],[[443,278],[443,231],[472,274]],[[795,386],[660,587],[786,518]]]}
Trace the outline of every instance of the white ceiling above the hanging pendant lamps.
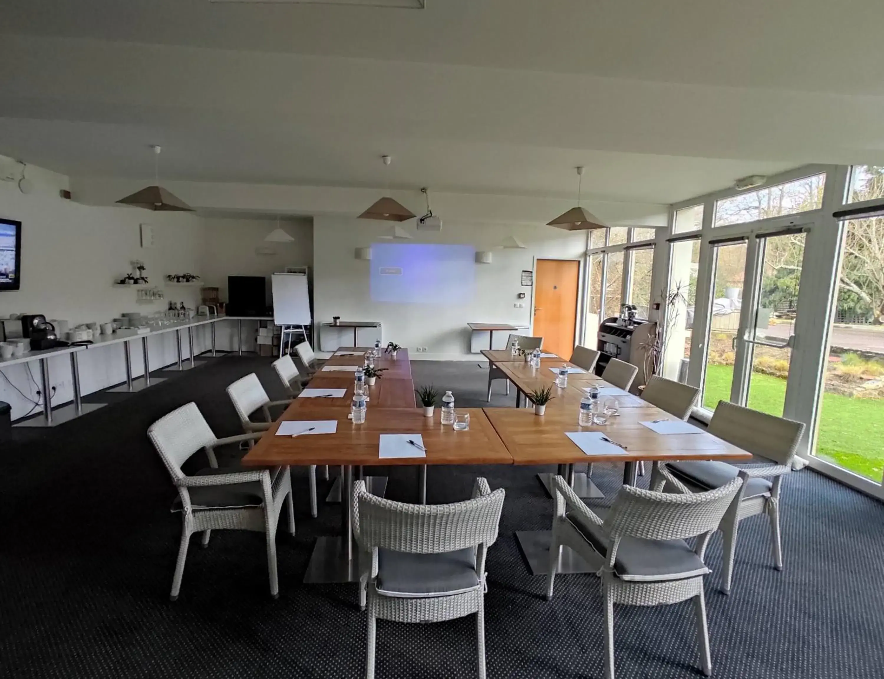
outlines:
{"label": "white ceiling above the hanging pendant lamps", "polygon": [[884,164],[882,21],[872,0],[4,0],[0,153],[134,179],[159,143],[170,179],[540,196],[582,164],[590,202],[676,202]]}

